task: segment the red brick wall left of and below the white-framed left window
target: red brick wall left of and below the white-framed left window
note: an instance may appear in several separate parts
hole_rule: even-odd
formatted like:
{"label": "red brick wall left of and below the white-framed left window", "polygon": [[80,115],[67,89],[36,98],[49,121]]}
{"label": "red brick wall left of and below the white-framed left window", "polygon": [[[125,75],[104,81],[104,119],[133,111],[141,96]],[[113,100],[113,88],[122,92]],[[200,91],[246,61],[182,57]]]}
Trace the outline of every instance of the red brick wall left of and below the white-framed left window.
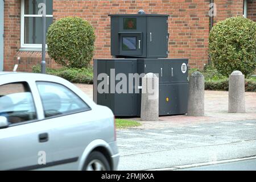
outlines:
{"label": "red brick wall left of and below the white-framed left window", "polygon": [[[19,51],[20,48],[20,0],[5,1],[5,40],[4,64],[5,71],[11,71],[15,64],[19,64],[18,71],[31,72],[32,66],[40,64],[40,51]],[[17,58],[20,57],[18,61]],[[59,68],[60,65],[46,56],[49,68]]]}

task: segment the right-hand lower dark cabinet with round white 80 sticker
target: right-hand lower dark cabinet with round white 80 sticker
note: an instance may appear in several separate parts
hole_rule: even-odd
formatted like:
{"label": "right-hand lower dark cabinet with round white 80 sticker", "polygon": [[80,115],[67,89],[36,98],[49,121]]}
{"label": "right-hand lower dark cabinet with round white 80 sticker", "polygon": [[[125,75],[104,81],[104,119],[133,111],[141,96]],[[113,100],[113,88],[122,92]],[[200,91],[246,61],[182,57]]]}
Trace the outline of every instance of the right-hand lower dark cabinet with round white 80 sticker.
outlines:
{"label": "right-hand lower dark cabinet with round white 80 sticker", "polygon": [[[188,59],[138,59],[137,65],[139,74],[159,76],[159,115],[187,113]],[[138,100],[141,101],[141,94]],[[138,113],[141,113],[141,102],[138,102]]]}

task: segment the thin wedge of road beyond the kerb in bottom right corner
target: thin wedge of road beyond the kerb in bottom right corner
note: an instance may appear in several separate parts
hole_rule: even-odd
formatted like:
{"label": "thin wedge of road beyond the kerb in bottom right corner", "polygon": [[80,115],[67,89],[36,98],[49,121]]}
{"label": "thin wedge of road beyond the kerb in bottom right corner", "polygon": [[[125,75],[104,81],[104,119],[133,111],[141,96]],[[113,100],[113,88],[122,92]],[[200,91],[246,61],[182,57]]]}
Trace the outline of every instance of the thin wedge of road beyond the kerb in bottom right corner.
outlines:
{"label": "thin wedge of road beyond the kerb in bottom right corner", "polygon": [[181,171],[256,171],[256,159],[179,169]]}

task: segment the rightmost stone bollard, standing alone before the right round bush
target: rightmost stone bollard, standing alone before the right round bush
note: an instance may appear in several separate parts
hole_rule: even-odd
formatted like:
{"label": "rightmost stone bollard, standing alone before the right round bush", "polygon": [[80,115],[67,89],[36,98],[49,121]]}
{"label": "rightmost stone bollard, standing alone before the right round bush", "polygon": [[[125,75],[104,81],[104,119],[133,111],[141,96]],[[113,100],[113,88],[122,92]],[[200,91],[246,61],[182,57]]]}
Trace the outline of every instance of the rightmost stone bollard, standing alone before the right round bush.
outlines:
{"label": "rightmost stone bollard, standing alone before the right round bush", "polygon": [[240,71],[229,76],[229,113],[245,113],[245,75]]}

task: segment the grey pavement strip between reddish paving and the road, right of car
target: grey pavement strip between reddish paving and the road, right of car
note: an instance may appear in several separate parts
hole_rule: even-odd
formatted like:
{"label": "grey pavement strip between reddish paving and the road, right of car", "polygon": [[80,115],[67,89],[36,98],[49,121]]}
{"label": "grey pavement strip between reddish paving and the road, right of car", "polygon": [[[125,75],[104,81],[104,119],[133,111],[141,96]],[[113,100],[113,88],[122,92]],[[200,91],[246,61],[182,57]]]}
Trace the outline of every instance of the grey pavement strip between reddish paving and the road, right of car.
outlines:
{"label": "grey pavement strip between reddish paving and the road, right of car", "polygon": [[[119,130],[117,142],[121,158],[118,169],[129,171],[172,168],[256,156],[255,133],[256,119],[159,129]],[[249,167],[253,167],[253,163],[247,163]]]}

